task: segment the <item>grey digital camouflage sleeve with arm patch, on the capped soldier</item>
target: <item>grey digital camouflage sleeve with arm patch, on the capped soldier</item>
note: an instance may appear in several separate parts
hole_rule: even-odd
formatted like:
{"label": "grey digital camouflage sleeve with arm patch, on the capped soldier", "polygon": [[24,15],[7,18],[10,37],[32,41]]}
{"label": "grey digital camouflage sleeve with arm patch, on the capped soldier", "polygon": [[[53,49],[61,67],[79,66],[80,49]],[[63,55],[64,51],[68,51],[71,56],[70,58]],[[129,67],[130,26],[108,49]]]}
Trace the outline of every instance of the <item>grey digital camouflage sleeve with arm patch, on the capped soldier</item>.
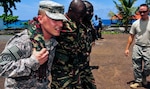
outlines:
{"label": "grey digital camouflage sleeve with arm patch, on the capped soldier", "polygon": [[13,39],[0,54],[0,76],[28,76],[39,68],[39,62],[31,57],[32,46],[27,40]]}

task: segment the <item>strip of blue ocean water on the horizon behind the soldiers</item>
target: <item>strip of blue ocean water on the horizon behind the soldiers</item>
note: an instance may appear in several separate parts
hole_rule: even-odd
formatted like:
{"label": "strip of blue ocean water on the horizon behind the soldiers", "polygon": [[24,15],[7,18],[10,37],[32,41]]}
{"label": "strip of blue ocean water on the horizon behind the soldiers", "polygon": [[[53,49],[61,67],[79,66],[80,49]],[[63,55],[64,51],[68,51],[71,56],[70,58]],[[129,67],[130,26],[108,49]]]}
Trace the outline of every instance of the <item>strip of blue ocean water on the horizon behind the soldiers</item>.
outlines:
{"label": "strip of blue ocean water on the horizon behind the soldiers", "polygon": [[[19,20],[17,22],[14,22],[14,23],[11,23],[11,24],[5,24],[3,25],[3,28],[4,29],[7,29],[7,28],[11,28],[11,29],[16,29],[16,28],[26,28],[26,26],[23,24],[25,22],[27,22],[28,20]],[[111,20],[109,19],[102,19],[102,24],[104,26],[109,26],[111,25]]]}

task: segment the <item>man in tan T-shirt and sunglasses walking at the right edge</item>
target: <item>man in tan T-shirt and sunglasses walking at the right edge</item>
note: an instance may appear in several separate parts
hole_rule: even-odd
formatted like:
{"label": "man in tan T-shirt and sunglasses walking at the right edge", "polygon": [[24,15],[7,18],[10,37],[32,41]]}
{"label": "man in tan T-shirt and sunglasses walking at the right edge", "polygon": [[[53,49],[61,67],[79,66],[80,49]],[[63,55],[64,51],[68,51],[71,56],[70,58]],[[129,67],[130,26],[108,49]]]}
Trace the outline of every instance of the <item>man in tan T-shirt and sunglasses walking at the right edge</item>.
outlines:
{"label": "man in tan T-shirt and sunglasses walking at the right edge", "polygon": [[149,75],[150,71],[150,17],[148,16],[148,5],[141,4],[139,13],[141,18],[132,24],[125,49],[125,55],[129,56],[129,48],[135,38],[132,53],[135,82],[130,84],[131,88],[147,85],[146,77]]}

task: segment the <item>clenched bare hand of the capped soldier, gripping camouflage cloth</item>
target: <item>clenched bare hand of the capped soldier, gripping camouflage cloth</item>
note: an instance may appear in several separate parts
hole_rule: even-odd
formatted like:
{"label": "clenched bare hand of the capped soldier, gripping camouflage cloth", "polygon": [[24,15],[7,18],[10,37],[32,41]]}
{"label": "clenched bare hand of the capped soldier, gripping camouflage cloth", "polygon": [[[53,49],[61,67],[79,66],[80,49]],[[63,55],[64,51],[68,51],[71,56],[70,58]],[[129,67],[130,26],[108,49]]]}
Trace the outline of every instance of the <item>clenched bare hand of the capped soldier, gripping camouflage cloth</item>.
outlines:
{"label": "clenched bare hand of the capped soldier, gripping camouflage cloth", "polygon": [[33,49],[32,56],[34,56],[40,63],[40,65],[44,64],[48,60],[49,52],[46,48],[43,48],[41,51],[36,51]]}

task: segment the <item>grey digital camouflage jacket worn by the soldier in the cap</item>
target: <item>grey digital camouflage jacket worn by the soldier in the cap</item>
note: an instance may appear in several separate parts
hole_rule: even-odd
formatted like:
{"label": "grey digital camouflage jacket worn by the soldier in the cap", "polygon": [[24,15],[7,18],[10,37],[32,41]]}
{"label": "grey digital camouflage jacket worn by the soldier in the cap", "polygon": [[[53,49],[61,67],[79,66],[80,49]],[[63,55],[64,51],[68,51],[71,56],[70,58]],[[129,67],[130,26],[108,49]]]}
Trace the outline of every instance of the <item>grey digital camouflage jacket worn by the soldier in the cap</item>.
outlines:
{"label": "grey digital camouflage jacket worn by the soldier in the cap", "polygon": [[35,58],[31,58],[34,46],[28,30],[13,36],[0,54],[0,76],[5,78],[5,89],[48,89],[48,76],[56,45],[57,41],[53,38],[46,42],[45,46],[50,51],[48,68],[46,79],[39,81],[37,70],[40,64]]}

